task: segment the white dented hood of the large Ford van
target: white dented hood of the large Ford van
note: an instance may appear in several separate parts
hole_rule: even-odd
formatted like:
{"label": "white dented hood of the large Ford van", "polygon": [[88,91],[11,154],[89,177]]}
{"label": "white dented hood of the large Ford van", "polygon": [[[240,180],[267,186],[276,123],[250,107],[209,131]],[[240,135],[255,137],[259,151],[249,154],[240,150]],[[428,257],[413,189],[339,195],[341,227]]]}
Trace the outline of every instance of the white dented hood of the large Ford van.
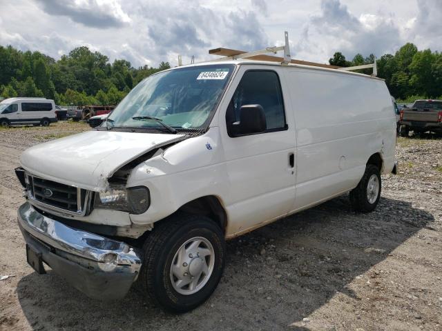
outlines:
{"label": "white dented hood of the large Ford van", "polygon": [[106,190],[119,168],[184,134],[88,131],[25,150],[21,166],[36,176],[88,190]]}

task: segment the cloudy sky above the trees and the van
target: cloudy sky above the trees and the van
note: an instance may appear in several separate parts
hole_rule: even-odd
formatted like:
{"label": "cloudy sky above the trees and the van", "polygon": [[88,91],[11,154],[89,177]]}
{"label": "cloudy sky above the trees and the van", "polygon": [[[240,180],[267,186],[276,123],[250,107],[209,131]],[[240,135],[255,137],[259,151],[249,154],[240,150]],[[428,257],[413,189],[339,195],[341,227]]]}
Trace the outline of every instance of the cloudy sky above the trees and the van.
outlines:
{"label": "cloudy sky above the trees and the van", "polygon": [[157,66],[213,59],[210,48],[279,46],[296,59],[381,56],[411,41],[442,50],[442,0],[0,0],[0,45],[58,59],[86,45],[111,60]]}

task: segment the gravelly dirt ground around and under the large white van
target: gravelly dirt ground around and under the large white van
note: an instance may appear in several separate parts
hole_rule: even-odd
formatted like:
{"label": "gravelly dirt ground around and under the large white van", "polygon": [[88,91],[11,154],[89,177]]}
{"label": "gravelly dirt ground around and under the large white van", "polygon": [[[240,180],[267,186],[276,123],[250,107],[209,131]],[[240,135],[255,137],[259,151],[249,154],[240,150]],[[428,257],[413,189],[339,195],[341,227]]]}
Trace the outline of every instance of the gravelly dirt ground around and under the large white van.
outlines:
{"label": "gravelly dirt ground around and under the large white van", "polygon": [[26,263],[13,169],[29,146],[82,130],[0,130],[0,330],[442,330],[441,139],[399,139],[401,172],[383,176],[371,214],[343,196],[229,241],[213,296],[173,315],[135,290],[88,299]]}

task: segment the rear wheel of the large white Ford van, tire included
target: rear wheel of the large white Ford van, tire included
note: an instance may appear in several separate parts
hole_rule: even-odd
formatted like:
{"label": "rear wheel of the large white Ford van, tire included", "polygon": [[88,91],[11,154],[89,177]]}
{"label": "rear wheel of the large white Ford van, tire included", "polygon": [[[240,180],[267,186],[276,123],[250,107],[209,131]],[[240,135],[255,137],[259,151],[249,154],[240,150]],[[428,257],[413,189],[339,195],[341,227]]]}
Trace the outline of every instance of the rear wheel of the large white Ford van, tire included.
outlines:
{"label": "rear wheel of the large white Ford van, tire included", "polygon": [[[372,190],[370,190],[370,187]],[[367,164],[361,181],[356,188],[350,191],[352,208],[356,212],[372,212],[378,205],[379,198],[381,198],[381,187],[379,168],[374,164]]]}

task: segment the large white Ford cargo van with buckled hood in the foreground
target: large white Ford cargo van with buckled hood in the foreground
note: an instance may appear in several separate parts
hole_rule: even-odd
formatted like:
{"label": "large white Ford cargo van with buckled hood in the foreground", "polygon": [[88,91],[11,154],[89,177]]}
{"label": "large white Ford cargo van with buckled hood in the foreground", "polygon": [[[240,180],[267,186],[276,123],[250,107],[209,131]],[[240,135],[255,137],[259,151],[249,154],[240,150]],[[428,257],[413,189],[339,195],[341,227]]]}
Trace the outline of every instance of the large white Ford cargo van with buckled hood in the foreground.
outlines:
{"label": "large white Ford cargo van with buckled hood in the foreground", "polygon": [[23,152],[28,263],[99,299],[137,280],[184,312],[215,290],[226,239],[345,192],[355,210],[374,210],[395,168],[390,93],[382,79],[309,64],[165,70],[106,125]]}

